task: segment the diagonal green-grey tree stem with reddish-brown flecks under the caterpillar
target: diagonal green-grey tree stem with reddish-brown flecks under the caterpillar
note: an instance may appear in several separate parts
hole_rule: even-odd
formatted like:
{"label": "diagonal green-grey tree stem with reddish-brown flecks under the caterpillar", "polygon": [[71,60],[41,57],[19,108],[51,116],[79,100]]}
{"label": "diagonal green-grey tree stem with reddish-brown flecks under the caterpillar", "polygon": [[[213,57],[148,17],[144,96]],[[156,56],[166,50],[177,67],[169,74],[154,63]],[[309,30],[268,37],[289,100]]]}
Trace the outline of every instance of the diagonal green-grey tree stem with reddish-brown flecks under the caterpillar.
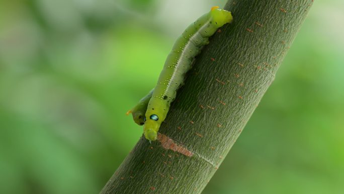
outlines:
{"label": "diagonal green-grey tree stem with reddish-brown flecks under the caterpillar", "polygon": [[228,1],[233,23],[197,56],[158,140],[142,137],[101,193],[200,193],[274,81],[312,3]]}

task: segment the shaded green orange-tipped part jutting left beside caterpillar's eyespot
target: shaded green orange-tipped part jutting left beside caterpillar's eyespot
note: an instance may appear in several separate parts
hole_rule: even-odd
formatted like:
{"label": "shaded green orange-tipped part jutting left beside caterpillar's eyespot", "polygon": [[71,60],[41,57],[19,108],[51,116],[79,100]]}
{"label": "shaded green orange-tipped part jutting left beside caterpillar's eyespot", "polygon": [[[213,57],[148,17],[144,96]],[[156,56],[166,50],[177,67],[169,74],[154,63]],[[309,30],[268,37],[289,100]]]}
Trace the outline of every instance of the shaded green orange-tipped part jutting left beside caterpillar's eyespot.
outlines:
{"label": "shaded green orange-tipped part jutting left beside caterpillar's eyespot", "polygon": [[126,113],[127,115],[132,113],[133,119],[138,125],[144,124],[144,115],[147,111],[148,102],[150,98],[152,97],[153,91],[154,89],[152,89],[145,97],[143,97],[139,101],[139,103],[135,107],[128,110],[128,112]]}

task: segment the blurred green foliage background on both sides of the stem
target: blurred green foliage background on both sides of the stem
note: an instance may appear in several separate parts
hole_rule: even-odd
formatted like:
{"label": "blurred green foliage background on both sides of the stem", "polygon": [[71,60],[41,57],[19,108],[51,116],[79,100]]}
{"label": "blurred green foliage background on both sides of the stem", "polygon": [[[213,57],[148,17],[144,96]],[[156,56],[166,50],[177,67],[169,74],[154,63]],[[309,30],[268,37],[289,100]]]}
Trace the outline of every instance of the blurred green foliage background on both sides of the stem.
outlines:
{"label": "blurred green foliage background on both sides of the stem", "polygon": [[[98,193],[142,134],[125,112],[186,26],[224,4],[1,1],[0,193]],[[315,1],[203,193],[344,193],[343,10]]]}

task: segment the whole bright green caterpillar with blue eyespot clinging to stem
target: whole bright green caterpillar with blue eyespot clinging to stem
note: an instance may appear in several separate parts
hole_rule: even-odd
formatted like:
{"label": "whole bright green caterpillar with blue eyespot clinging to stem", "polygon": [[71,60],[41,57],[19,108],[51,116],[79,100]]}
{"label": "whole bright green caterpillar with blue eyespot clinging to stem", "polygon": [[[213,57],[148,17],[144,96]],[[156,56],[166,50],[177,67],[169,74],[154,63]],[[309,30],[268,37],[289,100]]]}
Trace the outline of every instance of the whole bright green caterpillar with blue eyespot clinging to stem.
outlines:
{"label": "whole bright green caterpillar with blue eyespot clinging to stem", "polygon": [[156,140],[160,124],[165,120],[177,90],[184,84],[194,57],[209,43],[209,37],[218,28],[233,20],[230,12],[218,8],[211,8],[183,32],[168,54],[155,88],[127,112],[133,114],[137,124],[144,124],[143,134],[147,140]]}

